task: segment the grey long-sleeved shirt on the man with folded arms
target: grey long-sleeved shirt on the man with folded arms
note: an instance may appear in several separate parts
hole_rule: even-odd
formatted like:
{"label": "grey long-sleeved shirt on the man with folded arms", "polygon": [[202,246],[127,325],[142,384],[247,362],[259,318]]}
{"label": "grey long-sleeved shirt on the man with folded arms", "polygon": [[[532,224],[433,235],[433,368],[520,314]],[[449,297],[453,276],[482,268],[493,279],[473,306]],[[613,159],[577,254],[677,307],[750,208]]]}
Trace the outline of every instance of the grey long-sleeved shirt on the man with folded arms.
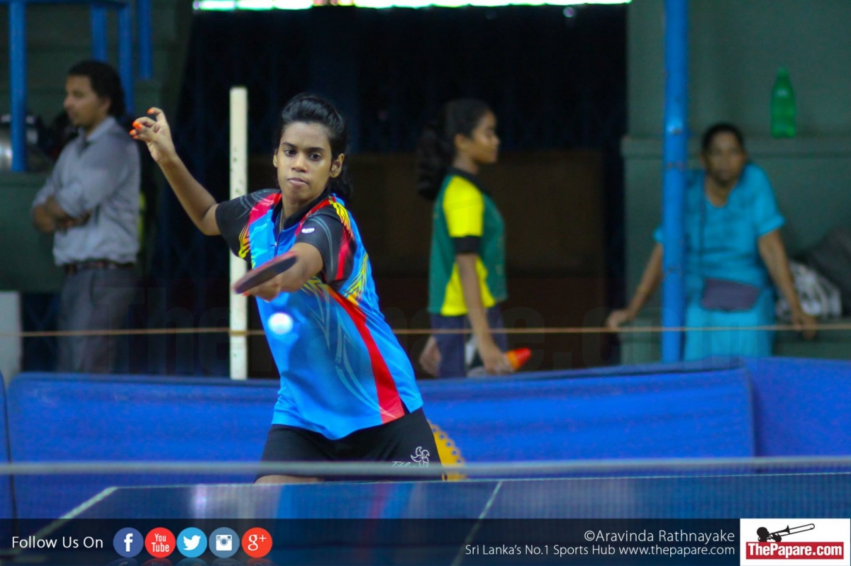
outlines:
{"label": "grey long-sleeved shirt on the man with folded arms", "polygon": [[81,132],[67,144],[32,207],[52,195],[70,216],[91,212],[91,218],[55,233],[56,265],[93,259],[134,262],[139,253],[139,188],[139,150],[112,116],[88,137]]}

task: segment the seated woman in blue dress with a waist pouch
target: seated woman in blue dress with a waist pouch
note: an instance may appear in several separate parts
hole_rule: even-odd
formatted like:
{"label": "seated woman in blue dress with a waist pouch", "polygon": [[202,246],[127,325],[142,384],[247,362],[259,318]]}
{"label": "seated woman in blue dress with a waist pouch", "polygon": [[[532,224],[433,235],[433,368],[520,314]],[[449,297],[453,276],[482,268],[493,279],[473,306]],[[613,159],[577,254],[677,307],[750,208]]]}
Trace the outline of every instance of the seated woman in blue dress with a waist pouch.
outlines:
{"label": "seated woman in blue dress with a waist pouch", "polygon": [[[768,176],[748,161],[739,128],[716,124],[703,135],[700,163],[686,190],[687,327],[774,325],[774,287],[791,307],[792,323],[814,336],[792,282]],[[662,281],[662,229],[629,306],[609,315],[616,328],[634,320]],[[774,285],[773,285],[774,284]],[[771,355],[773,331],[687,331],[684,359]]]}

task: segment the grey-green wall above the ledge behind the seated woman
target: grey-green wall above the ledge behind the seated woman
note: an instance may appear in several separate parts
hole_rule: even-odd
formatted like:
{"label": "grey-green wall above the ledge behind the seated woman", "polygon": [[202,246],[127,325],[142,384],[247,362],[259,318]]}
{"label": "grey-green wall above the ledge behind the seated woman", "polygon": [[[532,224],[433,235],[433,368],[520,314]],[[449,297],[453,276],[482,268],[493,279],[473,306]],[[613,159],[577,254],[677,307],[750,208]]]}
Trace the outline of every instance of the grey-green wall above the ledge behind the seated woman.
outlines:
{"label": "grey-green wall above the ledge behind the seated woman", "polygon": [[[664,2],[629,5],[629,133],[662,132]],[[851,133],[851,2],[688,0],[689,126],[736,122],[768,135],[777,68],[797,97],[802,135]]]}

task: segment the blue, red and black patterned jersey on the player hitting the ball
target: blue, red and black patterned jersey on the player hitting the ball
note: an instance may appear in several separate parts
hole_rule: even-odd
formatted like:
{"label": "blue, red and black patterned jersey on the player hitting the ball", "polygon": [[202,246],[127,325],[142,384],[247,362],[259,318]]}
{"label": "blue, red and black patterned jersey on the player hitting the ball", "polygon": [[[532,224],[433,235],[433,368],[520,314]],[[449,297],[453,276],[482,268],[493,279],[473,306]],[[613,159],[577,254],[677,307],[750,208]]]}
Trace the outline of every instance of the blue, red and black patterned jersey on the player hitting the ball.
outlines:
{"label": "blue, red and black patterned jersey on the player hitting the ball", "polygon": [[[272,424],[340,439],[419,409],[414,370],[379,310],[369,258],[345,203],[322,195],[278,230],[281,209],[280,191],[264,190],[216,211],[231,250],[252,267],[303,241],[323,256],[322,271],[300,291],[257,300],[281,376]],[[268,328],[275,313],[292,317],[291,331]]]}

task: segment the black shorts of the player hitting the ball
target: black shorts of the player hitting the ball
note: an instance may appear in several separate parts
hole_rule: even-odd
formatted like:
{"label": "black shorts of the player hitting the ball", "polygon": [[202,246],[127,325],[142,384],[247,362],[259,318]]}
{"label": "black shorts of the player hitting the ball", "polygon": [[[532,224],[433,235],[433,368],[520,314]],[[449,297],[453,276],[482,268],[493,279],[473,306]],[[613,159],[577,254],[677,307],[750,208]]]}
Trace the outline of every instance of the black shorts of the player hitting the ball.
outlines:
{"label": "black shorts of the player hitting the ball", "polygon": [[287,425],[272,425],[261,461],[386,461],[442,471],[434,433],[422,408],[395,421],[357,430],[338,440]]}

